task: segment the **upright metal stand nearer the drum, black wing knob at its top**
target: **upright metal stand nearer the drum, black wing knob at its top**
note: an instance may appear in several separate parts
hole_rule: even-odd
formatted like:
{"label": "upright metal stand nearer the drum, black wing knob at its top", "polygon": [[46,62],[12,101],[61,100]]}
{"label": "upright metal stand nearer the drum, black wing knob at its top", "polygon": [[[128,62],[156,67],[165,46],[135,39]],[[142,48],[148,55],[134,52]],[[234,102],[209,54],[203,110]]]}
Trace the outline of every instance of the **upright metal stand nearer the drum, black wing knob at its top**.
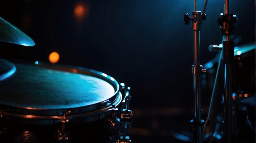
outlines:
{"label": "upright metal stand nearer the drum, black wing knob at its top", "polygon": [[191,20],[193,27],[194,65],[192,66],[192,72],[194,76],[194,115],[191,124],[193,125],[193,143],[202,143],[202,126],[204,125],[204,120],[201,117],[201,83],[202,74],[206,73],[206,69],[203,69],[203,66],[200,65],[200,30],[202,20],[206,20],[206,15],[202,15],[201,11],[196,11],[196,0],[194,0],[194,11],[192,15],[193,17],[189,17],[189,14],[184,15],[185,24],[188,25]]}

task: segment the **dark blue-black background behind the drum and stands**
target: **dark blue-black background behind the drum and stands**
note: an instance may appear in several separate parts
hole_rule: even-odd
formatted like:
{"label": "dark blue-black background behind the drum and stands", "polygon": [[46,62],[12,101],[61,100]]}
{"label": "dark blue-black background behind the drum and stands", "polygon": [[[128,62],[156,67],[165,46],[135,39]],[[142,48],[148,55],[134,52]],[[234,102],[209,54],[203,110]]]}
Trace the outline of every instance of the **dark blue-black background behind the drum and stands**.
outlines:
{"label": "dark blue-black background behind the drum and stands", "polygon": [[[88,13],[74,16],[77,4]],[[183,15],[193,11],[193,0],[6,0],[0,16],[36,43],[25,47],[0,43],[2,58],[47,62],[51,52],[58,63],[106,73],[131,87],[134,112],[130,137],[134,142],[178,142],[175,132],[191,133],[193,118],[193,32]],[[204,0],[198,0],[202,11]],[[216,56],[208,50],[222,40],[217,18],[224,0],[209,0],[202,23],[201,64]],[[255,41],[254,0],[231,0],[238,16],[237,45]],[[208,83],[207,83],[208,84]],[[205,119],[211,91],[204,89]],[[191,136],[188,134],[187,136]]]}

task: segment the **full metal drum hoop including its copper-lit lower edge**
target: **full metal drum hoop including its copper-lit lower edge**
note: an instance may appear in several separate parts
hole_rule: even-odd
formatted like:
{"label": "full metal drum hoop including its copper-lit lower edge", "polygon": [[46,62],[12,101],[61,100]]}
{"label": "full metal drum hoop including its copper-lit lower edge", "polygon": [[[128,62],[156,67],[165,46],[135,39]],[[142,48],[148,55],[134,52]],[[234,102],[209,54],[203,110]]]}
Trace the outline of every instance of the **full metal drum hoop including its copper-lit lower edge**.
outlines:
{"label": "full metal drum hoop including its copper-lit lower edge", "polygon": [[[18,62],[31,64],[31,61]],[[110,85],[112,85],[115,89],[115,93],[111,98],[103,102],[76,108],[46,109],[30,108],[23,106],[9,106],[5,104],[0,104],[0,117],[6,117],[9,120],[18,121],[26,124],[28,123],[49,125],[68,121],[76,123],[86,123],[105,118],[106,116],[110,115],[114,110],[117,110],[115,107],[121,103],[122,95],[119,91],[118,82],[114,78],[102,72],[87,69],[84,67],[61,64],[52,66],[51,64],[43,62],[40,62],[40,64],[35,66],[61,70],[65,72],[72,72],[77,74],[86,74],[89,76],[100,78],[110,83]]]}

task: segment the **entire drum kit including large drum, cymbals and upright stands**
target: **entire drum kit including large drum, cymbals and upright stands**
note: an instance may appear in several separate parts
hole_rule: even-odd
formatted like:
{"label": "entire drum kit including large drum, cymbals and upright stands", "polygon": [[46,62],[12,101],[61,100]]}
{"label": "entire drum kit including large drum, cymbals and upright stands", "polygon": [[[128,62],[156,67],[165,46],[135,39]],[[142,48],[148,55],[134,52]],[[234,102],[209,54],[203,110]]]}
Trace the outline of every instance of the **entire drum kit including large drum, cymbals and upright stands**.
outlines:
{"label": "entire drum kit including large drum, cymbals and upright stands", "polygon": [[[254,142],[255,43],[234,46],[230,37],[237,19],[225,0],[225,14],[218,20],[222,42],[209,46],[218,54],[200,65],[200,30],[207,0],[203,12],[196,11],[194,2],[193,17],[184,15],[185,24],[192,21],[194,39],[193,142]],[[2,17],[0,41],[35,45]],[[205,121],[203,88],[212,91]],[[131,143],[129,91],[124,83],[92,69],[0,59],[0,143]]]}

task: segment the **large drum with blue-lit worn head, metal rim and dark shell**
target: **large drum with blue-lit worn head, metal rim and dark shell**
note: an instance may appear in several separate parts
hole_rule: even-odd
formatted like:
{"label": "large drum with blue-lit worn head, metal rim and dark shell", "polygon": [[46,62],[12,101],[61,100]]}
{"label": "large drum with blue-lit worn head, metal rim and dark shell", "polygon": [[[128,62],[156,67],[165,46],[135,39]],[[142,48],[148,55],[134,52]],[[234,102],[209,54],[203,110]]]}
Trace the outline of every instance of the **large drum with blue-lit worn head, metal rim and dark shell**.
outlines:
{"label": "large drum with blue-lit worn head, metal rim and dark shell", "polygon": [[105,143],[117,136],[122,95],[114,78],[81,67],[0,63],[8,67],[0,70],[2,143]]}

